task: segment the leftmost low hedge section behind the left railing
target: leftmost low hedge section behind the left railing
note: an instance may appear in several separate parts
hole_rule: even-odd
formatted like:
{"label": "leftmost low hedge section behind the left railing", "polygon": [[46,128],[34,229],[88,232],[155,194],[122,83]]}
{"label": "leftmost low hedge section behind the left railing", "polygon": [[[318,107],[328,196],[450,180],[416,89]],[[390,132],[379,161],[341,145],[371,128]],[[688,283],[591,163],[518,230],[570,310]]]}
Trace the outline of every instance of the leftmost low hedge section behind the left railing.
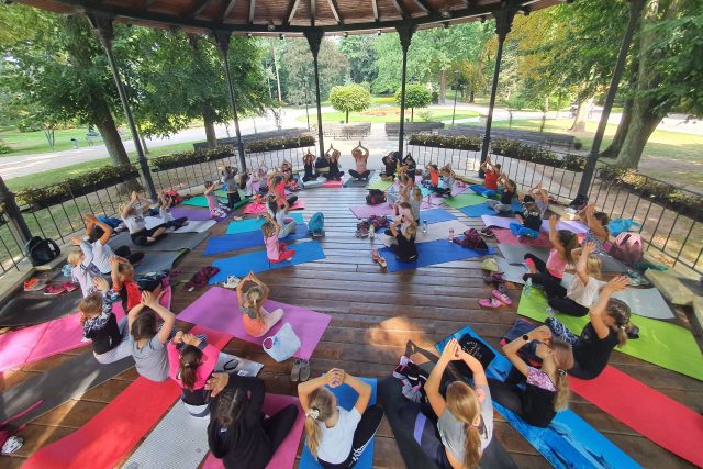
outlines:
{"label": "leftmost low hedge section behind the left railing", "polygon": [[27,204],[33,209],[43,209],[138,177],[140,171],[132,165],[102,166],[55,185],[22,189],[16,192],[16,200],[19,204]]}

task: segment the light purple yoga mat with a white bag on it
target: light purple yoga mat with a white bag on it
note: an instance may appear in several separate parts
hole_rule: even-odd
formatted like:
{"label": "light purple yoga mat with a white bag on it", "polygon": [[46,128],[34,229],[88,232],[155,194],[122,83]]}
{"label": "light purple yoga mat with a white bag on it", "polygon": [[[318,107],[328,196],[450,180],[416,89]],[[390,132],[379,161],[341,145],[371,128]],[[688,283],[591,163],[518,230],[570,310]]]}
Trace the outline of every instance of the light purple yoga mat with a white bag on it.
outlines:
{"label": "light purple yoga mat with a white bag on it", "polygon": [[290,323],[295,335],[300,337],[301,343],[300,349],[294,355],[304,360],[312,356],[317,343],[320,343],[322,334],[324,334],[327,324],[330,324],[332,320],[327,314],[316,313],[291,304],[279,303],[278,301],[269,300],[264,303],[264,308],[267,311],[274,311],[280,308],[284,313],[281,321],[271,327],[264,337],[252,337],[244,332],[237,294],[224,288],[211,288],[183,310],[178,315],[178,319],[225,332],[242,340],[259,345],[261,345],[266,337],[275,335],[284,323]]}

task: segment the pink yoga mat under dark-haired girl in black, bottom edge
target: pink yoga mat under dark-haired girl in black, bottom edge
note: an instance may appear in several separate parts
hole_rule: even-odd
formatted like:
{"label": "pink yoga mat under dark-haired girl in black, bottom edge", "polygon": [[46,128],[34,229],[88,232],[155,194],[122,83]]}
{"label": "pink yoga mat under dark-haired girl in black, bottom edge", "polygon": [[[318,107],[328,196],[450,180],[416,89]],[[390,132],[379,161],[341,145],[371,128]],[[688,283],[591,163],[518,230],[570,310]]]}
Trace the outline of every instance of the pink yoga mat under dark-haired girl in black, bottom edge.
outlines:
{"label": "pink yoga mat under dark-haired girl in black, bottom edge", "polygon": [[[303,409],[300,406],[298,398],[280,394],[266,394],[264,397],[263,410],[266,415],[274,415],[276,412],[290,404],[295,404],[298,406],[298,418],[283,443],[281,443],[276,450],[271,460],[266,465],[266,469],[289,469],[295,465],[295,455],[298,454],[300,437],[305,425],[305,414],[303,414]],[[223,467],[222,459],[217,459],[212,456],[212,453],[208,453],[208,458],[205,459],[202,469],[222,469]]]}

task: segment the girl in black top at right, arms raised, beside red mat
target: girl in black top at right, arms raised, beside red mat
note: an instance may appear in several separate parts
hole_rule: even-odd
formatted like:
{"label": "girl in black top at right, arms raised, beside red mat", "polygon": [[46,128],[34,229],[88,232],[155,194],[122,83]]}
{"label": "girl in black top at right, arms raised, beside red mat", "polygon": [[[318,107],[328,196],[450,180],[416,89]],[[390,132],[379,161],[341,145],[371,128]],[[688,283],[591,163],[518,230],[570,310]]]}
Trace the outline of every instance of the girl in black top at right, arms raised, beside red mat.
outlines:
{"label": "girl in black top at right, arms raised, beside red mat", "polygon": [[627,342],[628,333],[634,327],[629,322],[629,306],[612,295],[625,290],[628,284],[626,276],[618,276],[601,289],[598,301],[589,310],[590,322],[580,336],[555,317],[548,317],[545,322],[556,337],[573,347],[574,366],[569,375],[581,379],[596,378],[607,365],[613,349]]}

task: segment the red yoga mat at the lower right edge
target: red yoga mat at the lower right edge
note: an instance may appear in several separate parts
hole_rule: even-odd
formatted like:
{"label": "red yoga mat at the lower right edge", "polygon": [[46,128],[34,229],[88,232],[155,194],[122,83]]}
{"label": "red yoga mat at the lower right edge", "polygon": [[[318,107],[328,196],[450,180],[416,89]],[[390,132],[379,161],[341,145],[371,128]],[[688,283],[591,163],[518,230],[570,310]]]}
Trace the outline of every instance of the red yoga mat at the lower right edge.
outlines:
{"label": "red yoga mat at the lower right edge", "polygon": [[609,415],[703,467],[703,416],[696,412],[611,366],[594,380],[569,381],[574,392]]}

